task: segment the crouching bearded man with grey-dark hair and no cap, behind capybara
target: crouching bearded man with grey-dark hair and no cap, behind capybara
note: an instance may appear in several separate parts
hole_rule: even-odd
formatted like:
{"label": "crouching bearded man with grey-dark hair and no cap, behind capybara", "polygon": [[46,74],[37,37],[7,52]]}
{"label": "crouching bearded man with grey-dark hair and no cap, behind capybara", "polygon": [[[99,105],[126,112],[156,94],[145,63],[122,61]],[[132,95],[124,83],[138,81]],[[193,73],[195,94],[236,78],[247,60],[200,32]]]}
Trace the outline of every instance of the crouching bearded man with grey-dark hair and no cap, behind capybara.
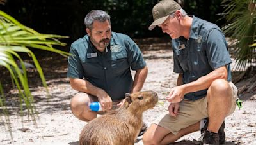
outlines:
{"label": "crouching bearded man with grey-dark hair and no cap, behind capybara", "polygon": [[[121,106],[125,93],[139,92],[148,69],[138,45],[125,34],[111,32],[105,11],[90,11],[84,24],[87,35],[71,45],[67,76],[78,91],[70,102],[72,113],[79,120],[90,121]],[[130,68],[136,71],[134,80]],[[102,111],[90,111],[89,105],[95,101],[100,102]]]}

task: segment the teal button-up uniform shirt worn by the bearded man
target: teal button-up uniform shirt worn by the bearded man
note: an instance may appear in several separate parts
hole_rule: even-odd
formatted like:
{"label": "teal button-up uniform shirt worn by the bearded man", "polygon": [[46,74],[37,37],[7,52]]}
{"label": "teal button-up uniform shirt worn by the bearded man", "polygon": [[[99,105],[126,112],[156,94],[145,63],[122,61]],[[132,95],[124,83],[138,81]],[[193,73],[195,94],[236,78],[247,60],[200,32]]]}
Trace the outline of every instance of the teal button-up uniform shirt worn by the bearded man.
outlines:
{"label": "teal button-up uniform shirt worn by the bearded man", "polygon": [[72,43],[68,57],[68,78],[86,79],[105,90],[112,100],[131,92],[131,69],[146,66],[138,45],[125,34],[112,32],[108,52],[99,52],[88,35]]}

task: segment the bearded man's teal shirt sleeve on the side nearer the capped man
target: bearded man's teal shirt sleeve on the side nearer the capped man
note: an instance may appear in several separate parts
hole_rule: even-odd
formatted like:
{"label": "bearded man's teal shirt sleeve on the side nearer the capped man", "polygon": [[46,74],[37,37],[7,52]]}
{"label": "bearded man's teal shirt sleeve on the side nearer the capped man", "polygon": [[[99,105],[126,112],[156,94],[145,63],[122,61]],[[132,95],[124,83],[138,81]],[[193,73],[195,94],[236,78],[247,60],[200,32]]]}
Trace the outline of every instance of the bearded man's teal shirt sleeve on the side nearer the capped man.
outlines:
{"label": "bearded man's teal shirt sleeve on the side nearer the capped man", "polygon": [[129,50],[127,53],[129,65],[132,70],[143,69],[146,66],[146,62],[143,59],[143,55],[139,46],[129,38]]}

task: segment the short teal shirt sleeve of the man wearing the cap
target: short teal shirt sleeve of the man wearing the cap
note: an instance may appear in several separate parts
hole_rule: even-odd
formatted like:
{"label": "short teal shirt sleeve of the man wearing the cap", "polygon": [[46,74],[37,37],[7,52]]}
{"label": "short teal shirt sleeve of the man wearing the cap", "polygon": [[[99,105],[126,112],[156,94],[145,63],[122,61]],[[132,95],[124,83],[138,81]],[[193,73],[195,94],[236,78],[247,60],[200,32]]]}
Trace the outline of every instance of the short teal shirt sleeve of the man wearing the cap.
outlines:
{"label": "short teal shirt sleeve of the man wearing the cap", "polygon": [[211,29],[206,42],[206,55],[212,69],[218,69],[232,63],[227,50],[224,34],[218,29]]}

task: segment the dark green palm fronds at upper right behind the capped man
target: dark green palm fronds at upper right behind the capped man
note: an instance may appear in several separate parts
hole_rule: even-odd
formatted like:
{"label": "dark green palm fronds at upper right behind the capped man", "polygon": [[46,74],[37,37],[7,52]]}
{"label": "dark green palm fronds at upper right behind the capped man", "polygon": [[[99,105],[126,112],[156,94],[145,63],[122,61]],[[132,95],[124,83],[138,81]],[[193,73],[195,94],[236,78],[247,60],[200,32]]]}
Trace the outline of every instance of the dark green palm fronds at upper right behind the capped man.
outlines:
{"label": "dark green palm fronds at upper right behind the capped man", "polygon": [[244,71],[256,60],[256,1],[224,0],[223,15],[227,25],[223,27],[225,34],[236,42],[236,70]]}

